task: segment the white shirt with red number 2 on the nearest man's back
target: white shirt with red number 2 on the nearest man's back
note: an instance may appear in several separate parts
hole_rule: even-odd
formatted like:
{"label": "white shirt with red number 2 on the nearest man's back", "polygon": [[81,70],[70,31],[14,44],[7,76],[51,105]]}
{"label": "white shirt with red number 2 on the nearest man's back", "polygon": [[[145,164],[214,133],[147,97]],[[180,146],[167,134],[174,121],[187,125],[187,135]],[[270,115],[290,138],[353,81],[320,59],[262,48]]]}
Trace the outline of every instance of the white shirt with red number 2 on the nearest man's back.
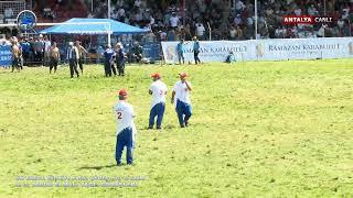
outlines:
{"label": "white shirt with red number 2 on the nearest man's back", "polygon": [[135,111],[131,105],[124,100],[119,100],[118,103],[114,106],[114,111],[117,119],[117,134],[119,134],[126,128],[132,128],[133,134],[137,132],[133,124]]}

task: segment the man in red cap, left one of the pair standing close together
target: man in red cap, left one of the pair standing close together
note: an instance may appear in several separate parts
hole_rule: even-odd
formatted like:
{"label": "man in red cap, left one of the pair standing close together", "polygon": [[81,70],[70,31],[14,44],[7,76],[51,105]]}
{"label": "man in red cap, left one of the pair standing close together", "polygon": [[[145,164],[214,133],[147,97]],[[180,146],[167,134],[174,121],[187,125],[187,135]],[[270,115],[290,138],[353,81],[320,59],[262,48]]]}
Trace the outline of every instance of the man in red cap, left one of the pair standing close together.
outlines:
{"label": "man in red cap, left one of the pair standing close together", "polygon": [[157,129],[160,130],[165,110],[165,95],[168,88],[158,73],[152,74],[151,77],[153,78],[153,82],[148,92],[152,95],[152,102],[148,129],[153,129],[154,119],[157,117]]}

